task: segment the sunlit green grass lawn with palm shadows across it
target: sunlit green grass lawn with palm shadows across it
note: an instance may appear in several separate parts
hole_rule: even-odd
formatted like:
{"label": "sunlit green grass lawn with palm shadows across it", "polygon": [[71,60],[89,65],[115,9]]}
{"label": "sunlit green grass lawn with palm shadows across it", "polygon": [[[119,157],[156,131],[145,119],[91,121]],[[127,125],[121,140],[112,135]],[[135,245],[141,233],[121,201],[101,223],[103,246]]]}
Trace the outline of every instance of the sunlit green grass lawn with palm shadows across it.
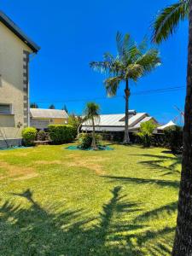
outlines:
{"label": "sunlit green grass lawn with palm shadows across it", "polygon": [[170,255],[180,160],[63,147],[0,152],[0,255]]}

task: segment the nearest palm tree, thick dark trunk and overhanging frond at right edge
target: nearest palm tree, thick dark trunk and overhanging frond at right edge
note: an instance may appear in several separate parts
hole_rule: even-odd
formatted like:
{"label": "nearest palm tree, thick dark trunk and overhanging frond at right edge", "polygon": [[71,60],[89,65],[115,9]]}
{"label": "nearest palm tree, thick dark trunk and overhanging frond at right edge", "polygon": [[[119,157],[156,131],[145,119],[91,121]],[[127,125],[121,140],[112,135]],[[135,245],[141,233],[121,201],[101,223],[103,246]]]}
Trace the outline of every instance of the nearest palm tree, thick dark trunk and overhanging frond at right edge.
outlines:
{"label": "nearest palm tree, thick dark trunk and overhanging frond at right edge", "polygon": [[174,256],[192,255],[192,0],[180,0],[160,12],[154,21],[155,43],[168,38],[180,20],[189,19],[187,94],[184,109],[183,161],[178,196],[177,229],[172,249]]}

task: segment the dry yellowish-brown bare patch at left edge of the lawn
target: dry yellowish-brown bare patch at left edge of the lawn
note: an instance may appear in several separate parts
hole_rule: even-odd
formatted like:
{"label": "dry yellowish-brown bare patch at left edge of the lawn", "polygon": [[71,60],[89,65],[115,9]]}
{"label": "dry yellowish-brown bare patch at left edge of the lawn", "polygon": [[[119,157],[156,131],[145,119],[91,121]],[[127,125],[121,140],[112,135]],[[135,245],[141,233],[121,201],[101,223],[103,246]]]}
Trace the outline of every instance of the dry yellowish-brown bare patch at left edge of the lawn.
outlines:
{"label": "dry yellowish-brown bare patch at left edge of the lawn", "polygon": [[13,166],[3,161],[0,161],[0,168],[5,171],[3,175],[0,175],[0,179],[11,177],[15,180],[24,180],[38,176],[38,173],[31,167]]}

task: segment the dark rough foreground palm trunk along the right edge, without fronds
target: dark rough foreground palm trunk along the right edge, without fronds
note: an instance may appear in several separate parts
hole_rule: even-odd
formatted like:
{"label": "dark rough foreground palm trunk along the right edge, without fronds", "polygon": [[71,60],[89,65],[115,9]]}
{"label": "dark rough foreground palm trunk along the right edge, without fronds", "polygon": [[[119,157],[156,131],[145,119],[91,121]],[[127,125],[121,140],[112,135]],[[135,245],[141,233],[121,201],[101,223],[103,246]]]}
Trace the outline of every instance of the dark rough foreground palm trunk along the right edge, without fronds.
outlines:
{"label": "dark rough foreground palm trunk along the right edge, without fronds", "polygon": [[187,94],[184,110],[183,161],[173,256],[192,255],[192,0],[189,0]]}

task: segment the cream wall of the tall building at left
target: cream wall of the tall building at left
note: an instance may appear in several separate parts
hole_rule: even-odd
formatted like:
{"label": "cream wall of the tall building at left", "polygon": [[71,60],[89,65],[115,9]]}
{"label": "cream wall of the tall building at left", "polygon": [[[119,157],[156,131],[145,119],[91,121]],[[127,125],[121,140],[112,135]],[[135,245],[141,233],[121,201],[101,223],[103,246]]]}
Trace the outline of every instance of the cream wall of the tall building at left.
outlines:
{"label": "cream wall of the tall building at left", "polygon": [[[18,122],[24,124],[23,50],[32,52],[0,22],[0,103],[12,104],[14,115],[0,115],[0,129],[7,138],[20,137]],[[1,139],[1,137],[0,137]]]}

